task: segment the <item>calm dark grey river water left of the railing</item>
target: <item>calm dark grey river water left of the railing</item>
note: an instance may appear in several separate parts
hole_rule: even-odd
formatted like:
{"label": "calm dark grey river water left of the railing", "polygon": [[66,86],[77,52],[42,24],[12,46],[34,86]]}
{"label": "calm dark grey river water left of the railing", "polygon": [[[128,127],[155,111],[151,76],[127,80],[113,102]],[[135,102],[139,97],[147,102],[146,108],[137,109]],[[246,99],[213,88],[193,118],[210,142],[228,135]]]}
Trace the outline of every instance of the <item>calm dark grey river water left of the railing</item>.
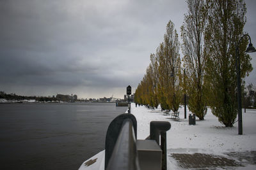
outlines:
{"label": "calm dark grey river water left of the railing", "polygon": [[104,149],[115,103],[0,104],[1,169],[78,169]]}

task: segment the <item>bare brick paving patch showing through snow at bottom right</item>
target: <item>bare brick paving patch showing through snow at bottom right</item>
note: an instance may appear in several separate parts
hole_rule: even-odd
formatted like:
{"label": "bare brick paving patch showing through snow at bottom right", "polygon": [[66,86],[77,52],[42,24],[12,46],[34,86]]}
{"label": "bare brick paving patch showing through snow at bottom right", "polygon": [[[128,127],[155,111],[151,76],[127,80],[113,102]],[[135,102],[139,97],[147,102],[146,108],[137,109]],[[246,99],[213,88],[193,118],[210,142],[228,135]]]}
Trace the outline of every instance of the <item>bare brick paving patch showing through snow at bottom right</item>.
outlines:
{"label": "bare brick paving patch showing through snow at bottom right", "polygon": [[175,159],[184,169],[236,169],[246,164],[256,165],[256,151],[229,152],[226,157],[205,153],[172,153],[169,157]]}

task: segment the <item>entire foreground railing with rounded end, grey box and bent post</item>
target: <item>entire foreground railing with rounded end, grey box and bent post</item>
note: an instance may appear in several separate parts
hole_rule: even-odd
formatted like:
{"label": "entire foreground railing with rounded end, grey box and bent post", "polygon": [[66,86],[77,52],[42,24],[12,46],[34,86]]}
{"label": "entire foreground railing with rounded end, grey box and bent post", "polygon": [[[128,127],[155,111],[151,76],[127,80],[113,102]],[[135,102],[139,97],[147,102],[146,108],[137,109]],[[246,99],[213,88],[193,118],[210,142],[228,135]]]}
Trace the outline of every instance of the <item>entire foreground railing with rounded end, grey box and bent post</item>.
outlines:
{"label": "entire foreground railing with rounded end, grey box and bent post", "polygon": [[136,118],[119,115],[108,127],[105,169],[166,169],[166,131],[170,127],[170,122],[150,122],[150,136],[137,140]]}

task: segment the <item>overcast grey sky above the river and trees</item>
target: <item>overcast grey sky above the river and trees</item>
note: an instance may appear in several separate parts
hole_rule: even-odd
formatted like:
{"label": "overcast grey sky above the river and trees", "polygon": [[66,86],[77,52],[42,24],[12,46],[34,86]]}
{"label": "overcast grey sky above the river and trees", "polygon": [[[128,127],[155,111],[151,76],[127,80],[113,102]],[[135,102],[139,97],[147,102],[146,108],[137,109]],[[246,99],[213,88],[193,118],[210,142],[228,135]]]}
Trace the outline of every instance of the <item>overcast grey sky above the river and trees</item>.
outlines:
{"label": "overcast grey sky above the river and trees", "polygon": [[[256,1],[245,2],[244,31],[256,46]],[[180,0],[0,0],[0,91],[123,98],[128,85],[135,92],[169,20],[180,36],[186,11]],[[245,80],[256,85],[250,55]]]}

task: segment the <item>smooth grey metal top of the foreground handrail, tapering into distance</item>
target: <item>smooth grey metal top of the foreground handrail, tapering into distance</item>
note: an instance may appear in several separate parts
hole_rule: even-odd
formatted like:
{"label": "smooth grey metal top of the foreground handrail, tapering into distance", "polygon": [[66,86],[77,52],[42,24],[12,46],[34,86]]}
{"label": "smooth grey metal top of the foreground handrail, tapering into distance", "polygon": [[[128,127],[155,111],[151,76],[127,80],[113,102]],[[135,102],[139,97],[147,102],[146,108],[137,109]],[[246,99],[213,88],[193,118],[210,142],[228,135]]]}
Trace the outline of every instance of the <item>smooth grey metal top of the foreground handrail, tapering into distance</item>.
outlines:
{"label": "smooth grey metal top of the foreground handrail, tapering into distance", "polygon": [[123,122],[115,148],[108,162],[107,170],[117,169],[140,169],[134,129],[132,127],[132,121],[128,118]]}

